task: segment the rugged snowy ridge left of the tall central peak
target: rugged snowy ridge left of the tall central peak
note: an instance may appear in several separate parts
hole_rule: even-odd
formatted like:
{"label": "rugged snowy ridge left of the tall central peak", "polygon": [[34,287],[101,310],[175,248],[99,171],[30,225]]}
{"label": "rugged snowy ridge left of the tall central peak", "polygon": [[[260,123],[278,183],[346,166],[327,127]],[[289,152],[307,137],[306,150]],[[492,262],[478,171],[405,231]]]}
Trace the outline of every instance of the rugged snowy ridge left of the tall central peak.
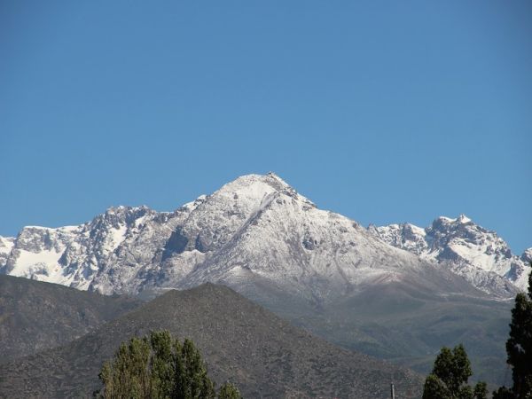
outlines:
{"label": "rugged snowy ridge left of the tall central peak", "polygon": [[129,264],[145,262],[150,250],[155,252],[155,246],[163,245],[160,238],[164,241],[164,234],[169,236],[172,220],[186,212],[165,214],[148,207],[111,207],[79,226],[25,227],[13,239],[12,250],[0,270],[12,276],[88,289],[108,263],[121,262],[127,271]]}

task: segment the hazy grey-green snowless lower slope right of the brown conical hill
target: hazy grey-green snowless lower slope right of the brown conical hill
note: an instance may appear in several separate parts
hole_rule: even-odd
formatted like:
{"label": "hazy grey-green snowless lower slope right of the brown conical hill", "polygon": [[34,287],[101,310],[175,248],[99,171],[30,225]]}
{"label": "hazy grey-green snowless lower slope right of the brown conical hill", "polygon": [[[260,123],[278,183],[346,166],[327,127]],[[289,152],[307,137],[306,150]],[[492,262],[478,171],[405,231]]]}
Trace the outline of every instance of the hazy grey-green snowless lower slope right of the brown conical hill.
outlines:
{"label": "hazy grey-green snowless lower slope right of the brown conical hill", "polygon": [[418,278],[356,288],[322,304],[301,300],[252,275],[246,284],[232,287],[333,344],[422,374],[430,372],[442,346],[463,343],[474,379],[505,383],[505,342],[513,301],[493,300],[472,286],[468,290],[459,286],[465,280],[448,276],[426,268]]}

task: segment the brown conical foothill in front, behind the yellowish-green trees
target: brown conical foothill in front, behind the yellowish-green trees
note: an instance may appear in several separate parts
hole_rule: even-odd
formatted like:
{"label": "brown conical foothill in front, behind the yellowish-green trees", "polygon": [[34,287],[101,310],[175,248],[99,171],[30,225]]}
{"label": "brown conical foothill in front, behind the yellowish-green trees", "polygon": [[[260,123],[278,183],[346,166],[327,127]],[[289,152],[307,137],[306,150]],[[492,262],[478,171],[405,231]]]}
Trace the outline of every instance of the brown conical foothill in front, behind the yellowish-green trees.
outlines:
{"label": "brown conical foothill in front, behind the yellowish-green trees", "polygon": [[189,337],[220,384],[246,397],[382,398],[393,375],[401,397],[419,397],[419,375],[333,346],[230,288],[211,284],[166,293],[54,350],[0,366],[0,396],[75,397],[98,388],[98,370],[122,340],[153,329]]}

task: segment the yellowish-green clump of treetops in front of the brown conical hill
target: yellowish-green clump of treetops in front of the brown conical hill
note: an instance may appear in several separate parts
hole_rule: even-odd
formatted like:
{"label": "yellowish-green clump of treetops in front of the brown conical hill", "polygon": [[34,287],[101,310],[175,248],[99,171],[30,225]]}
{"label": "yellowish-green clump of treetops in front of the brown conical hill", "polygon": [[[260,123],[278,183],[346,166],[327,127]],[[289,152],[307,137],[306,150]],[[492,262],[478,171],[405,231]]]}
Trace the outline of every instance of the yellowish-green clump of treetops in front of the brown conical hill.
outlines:
{"label": "yellowish-green clump of treetops in front of the brown conical hill", "polygon": [[[215,384],[192,340],[172,339],[168,331],[122,343],[99,378],[104,384],[97,397],[106,399],[214,399]],[[241,398],[232,384],[224,384],[220,398]]]}

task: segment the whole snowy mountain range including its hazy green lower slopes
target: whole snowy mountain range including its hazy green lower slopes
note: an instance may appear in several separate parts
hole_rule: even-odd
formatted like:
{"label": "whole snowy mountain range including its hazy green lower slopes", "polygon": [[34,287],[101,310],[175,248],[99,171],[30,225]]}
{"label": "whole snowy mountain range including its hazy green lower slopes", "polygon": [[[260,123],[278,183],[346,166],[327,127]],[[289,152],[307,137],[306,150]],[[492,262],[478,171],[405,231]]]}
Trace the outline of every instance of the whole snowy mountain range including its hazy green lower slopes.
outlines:
{"label": "whole snowy mountain range including its hazy green lower slopes", "polygon": [[221,283],[419,372],[443,345],[464,342],[491,381],[505,370],[506,300],[520,282],[510,271],[525,274],[525,257],[464,215],[426,229],[365,229],[272,173],[241,176],[174,212],[112,207],[79,226],[25,227],[0,240],[5,274],[145,297]]}

